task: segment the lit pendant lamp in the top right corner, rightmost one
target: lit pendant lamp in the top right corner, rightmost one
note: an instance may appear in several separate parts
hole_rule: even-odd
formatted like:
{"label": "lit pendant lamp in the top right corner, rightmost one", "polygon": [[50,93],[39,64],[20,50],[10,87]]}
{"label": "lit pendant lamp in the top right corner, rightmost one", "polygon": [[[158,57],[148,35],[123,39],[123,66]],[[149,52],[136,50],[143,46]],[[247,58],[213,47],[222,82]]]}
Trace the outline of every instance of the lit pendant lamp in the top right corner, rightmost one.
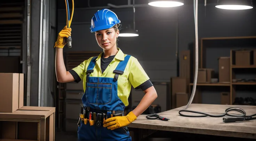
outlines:
{"label": "lit pendant lamp in the top right corner, rightmost one", "polygon": [[243,10],[253,8],[252,0],[218,0],[216,8],[228,10]]}

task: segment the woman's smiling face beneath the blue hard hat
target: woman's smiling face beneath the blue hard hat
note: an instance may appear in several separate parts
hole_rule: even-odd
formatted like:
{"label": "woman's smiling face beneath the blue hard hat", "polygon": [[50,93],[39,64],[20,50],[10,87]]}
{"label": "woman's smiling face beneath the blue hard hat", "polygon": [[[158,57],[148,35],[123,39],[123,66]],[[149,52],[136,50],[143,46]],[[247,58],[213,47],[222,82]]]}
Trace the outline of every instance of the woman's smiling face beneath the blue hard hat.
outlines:
{"label": "woman's smiling face beneath the blue hard hat", "polygon": [[116,47],[118,35],[119,30],[115,32],[114,28],[99,30],[95,32],[97,43],[104,50],[109,50],[112,47]]}

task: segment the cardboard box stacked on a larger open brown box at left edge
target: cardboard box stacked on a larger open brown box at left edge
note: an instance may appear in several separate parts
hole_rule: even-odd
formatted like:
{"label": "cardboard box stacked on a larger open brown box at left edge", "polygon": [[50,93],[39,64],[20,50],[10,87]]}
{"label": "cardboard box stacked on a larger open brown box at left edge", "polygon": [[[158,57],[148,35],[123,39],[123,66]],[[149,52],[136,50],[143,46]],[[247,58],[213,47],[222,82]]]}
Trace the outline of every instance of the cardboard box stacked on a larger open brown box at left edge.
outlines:
{"label": "cardboard box stacked on a larger open brown box at left edge", "polygon": [[0,73],[0,141],[54,141],[55,107],[24,106],[24,74]]}

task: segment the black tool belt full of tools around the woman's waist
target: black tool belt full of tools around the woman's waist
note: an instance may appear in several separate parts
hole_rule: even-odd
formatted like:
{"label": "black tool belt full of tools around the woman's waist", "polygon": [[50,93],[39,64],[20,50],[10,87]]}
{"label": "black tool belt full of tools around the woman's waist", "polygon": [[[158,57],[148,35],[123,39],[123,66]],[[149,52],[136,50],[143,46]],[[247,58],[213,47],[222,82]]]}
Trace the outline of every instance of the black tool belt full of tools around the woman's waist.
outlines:
{"label": "black tool belt full of tools around the woman's waist", "polygon": [[96,125],[99,127],[103,125],[103,121],[115,116],[124,116],[124,111],[106,111],[92,109],[90,107],[81,107],[81,113],[78,119],[78,126],[80,125],[79,123],[83,121],[84,124],[87,124],[89,122],[90,126]]}

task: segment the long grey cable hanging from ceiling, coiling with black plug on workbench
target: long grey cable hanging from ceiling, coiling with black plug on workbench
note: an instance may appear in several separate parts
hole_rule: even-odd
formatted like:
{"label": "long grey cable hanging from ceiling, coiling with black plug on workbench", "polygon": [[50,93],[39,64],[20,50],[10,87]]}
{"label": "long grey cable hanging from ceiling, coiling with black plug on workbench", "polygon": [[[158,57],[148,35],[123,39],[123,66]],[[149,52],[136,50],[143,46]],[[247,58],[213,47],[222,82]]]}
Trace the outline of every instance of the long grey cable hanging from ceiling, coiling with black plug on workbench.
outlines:
{"label": "long grey cable hanging from ceiling, coiling with black plug on workbench", "polygon": [[[193,90],[192,90],[190,100],[187,103],[186,107],[183,110],[179,111],[179,115],[186,116],[186,117],[206,117],[206,116],[223,117],[225,115],[235,117],[235,118],[223,118],[223,122],[237,122],[237,121],[248,121],[248,120],[256,119],[256,117],[253,118],[253,116],[256,116],[256,114],[246,115],[246,112],[244,110],[242,110],[240,108],[237,108],[237,107],[230,107],[230,108],[225,110],[224,114],[221,114],[221,115],[211,115],[211,114],[207,114],[207,113],[203,113],[203,112],[186,110],[193,101],[193,98],[194,98],[194,95],[195,95],[195,90],[196,90],[196,87],[197,87],[197,76],[198,76],[198,0],[194,0],[193,5],[194,5],[194,23],[195,23],[195,74],[194,74],[194,83],[193,83]],[[229,114],[228,112],[230,112],[230,111],[237,111],[239,113],[242,113],[242,115]],[[181,112],[197,113],[197,114],[201,114],[201,115],[185,115],[185,114],[182,114]]]}

